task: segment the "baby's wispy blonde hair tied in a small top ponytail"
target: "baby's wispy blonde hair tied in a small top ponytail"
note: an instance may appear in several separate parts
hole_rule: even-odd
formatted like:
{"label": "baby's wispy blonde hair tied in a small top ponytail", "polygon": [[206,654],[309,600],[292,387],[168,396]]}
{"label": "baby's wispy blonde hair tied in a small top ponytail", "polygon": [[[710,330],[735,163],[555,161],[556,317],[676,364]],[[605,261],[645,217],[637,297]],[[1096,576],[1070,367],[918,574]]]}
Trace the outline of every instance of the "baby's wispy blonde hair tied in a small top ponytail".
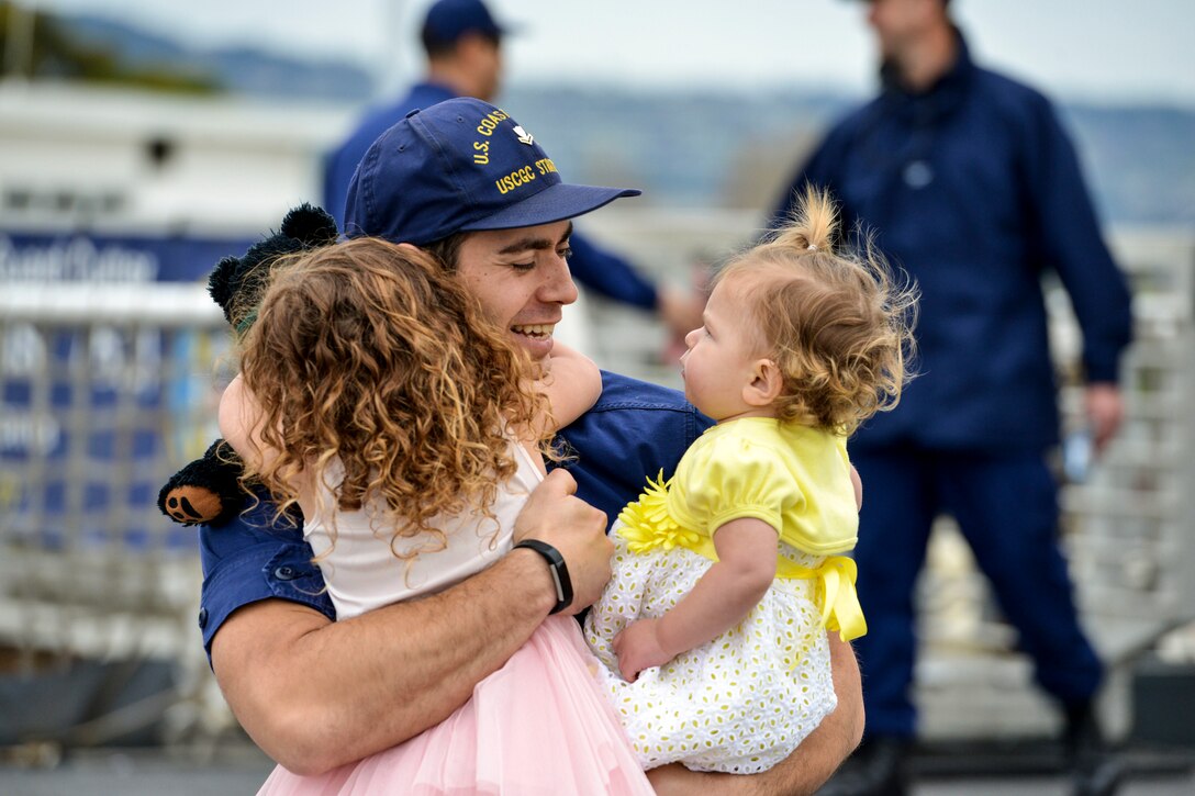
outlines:
{"label": "baby's wispy blonde hair tied in a small top ponytail", "polygon": [[897,284],[865,240],[835,249],[838,214],[807,186],[789,224],[718,274],[755,320],[760,354],[784,378],[784,422],[850,434],[891,409],[907,378],[917,289]]}

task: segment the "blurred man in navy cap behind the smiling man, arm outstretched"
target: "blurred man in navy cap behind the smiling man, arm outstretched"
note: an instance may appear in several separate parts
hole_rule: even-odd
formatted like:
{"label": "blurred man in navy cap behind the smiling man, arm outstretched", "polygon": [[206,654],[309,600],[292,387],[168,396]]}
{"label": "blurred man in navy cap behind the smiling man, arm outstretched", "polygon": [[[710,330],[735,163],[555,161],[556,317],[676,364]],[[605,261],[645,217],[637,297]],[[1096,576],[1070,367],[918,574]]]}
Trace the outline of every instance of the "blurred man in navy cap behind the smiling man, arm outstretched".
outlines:
{"label": "blurred man in navy cap behind the smiling man, arm outstretched", "polygon": [[[494,100],[501,85],[502,41],[507,32],[480,0],[431,4],[421,35],[427,76],[397,102],[369,111],[325,160],[324,208],[342,228],[349,182],[374,139],[418,108],[453,97]],[[581,234],[572,237],[572,275],[582,284],[606,298],[657,313],[674,338],[682,338],[700,325],[704,301],[698,296],[654,284],[624,258]]]}

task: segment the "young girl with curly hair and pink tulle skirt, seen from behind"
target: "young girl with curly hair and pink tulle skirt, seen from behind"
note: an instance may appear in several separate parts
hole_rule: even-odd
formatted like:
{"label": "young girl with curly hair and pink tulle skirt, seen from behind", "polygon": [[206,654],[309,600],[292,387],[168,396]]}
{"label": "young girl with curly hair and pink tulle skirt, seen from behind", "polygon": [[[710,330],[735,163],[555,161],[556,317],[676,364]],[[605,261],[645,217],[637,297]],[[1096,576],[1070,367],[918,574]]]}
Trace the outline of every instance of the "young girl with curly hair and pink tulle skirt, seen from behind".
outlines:
{"label": "young girl with curly hair and pink tulle skirt, seen from behind", "polygon": [[[282,261],[221,402],[225,437],[298,507],[338,620],[429,594],[508,552],[549,441],[598,398],[557,345],[547,373],[433,257],[358,238]],[[650,794],[577,623],[550,616],[446,721],[263,794]]]}

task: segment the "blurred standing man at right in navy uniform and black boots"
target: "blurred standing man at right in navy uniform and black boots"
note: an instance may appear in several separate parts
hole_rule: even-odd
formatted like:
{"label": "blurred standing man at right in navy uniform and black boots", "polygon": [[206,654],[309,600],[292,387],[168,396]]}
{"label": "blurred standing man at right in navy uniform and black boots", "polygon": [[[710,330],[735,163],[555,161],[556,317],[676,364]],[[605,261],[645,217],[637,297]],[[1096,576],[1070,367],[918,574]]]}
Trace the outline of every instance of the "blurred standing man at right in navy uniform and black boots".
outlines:
{"label": "blurred standing man at right in navy uniform and black boots", "polygon": [[[1122,417],[1129,292],[1101,237],[1076,152],[1040,93],[972,62],[948,0],[871,0],[881,94],[836,124],[792,179],[841,202],[921,289],[917,380],[851,443],[868,500],[856,551],[870,632],[857,644],[866,729],[833,794],[906,794],[914,584],[950,514],[991,580],[1037,682],[1059,703],[1076,794],[1111,794],[1119,766],[1095,716],[1102,665],[1079,626],[1058,545],[1054,367],[1041,286],[1058,274],[1083,330],[1086,415],[1102,449]],[[859,225],[859,226],[856,226]]]}

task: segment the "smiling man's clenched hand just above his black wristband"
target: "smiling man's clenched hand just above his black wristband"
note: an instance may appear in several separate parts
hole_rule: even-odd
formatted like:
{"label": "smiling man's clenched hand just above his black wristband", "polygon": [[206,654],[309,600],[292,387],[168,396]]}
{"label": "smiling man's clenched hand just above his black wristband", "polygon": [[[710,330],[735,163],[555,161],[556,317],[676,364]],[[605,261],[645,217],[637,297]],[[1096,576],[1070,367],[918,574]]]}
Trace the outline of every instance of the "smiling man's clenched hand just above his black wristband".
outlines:
{"label": "smiling man's clenched hand just above his black wristband", "polygon": [[572,605],[565,612],[572,614],[601,596],[614,555],[614,543],[606,537],[606,513],[576,497],[576,491],[577,482],[569,472],[547,473],[520,512],[514,529],[516,543],[539,539],[560,551],[572,581]]}

